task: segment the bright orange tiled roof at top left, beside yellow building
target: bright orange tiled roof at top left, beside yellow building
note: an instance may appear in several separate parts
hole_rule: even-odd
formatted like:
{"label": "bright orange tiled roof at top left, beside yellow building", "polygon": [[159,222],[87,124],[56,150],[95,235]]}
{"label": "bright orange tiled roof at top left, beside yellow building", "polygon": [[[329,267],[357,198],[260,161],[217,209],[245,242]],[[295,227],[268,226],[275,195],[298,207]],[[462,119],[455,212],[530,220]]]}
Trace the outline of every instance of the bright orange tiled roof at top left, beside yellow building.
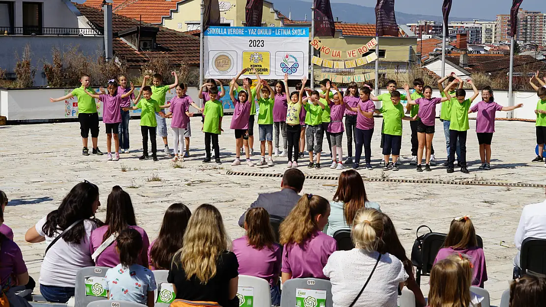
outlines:
{"label": "bright orange tiled roof at top left, beside yellow building", "polygon": [[[170,16],[180,1],[166,0],[112,0],[112,11],[128,18],[159,24],[163,16]],[[87,0],[87,7],[101,8],[103,0]]]}

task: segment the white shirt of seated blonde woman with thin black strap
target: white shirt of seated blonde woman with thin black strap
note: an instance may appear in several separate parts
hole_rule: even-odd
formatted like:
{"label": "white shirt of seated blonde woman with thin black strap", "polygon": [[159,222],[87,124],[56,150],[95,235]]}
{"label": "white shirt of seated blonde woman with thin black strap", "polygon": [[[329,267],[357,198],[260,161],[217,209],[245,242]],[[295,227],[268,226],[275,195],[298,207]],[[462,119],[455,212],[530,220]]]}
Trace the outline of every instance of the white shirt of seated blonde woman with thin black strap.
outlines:
{"label": "white shirt of seated blonde woman with thin black strap", "polygon": [[[357,248],[335,251],[330,255],[323,273],[332,283],[334,307],[351,305],[370,276],[378,256],[378,252]],[[396,307],[398,287],[407,278],[408,274],[398,258],[388,253],[382,255],[370,282],[354,306]]]}

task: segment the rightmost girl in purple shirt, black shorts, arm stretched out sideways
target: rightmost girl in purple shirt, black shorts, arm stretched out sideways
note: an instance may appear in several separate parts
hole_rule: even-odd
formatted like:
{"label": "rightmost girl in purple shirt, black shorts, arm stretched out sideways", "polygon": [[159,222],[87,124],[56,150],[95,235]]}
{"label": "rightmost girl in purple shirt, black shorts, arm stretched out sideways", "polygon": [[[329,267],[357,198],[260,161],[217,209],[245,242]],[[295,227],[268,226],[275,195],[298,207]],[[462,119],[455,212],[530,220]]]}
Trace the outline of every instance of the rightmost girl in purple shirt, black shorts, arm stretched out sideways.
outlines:
{"label": "rightmost girl in purple shirt, black shorts, arm stretched out sideways", "polygon": [[522,107],[523,104],[515,106],[501,106],[495,103],[493,91],[485,87],[482,91],[482,101],[473,105],[468,113],[478,112],[476,115],[476,135],[479,143],[479,158],[482,160],[480,170],[491,169],[491,140],[495,132],[495,113],[497,111],[512,111]]}

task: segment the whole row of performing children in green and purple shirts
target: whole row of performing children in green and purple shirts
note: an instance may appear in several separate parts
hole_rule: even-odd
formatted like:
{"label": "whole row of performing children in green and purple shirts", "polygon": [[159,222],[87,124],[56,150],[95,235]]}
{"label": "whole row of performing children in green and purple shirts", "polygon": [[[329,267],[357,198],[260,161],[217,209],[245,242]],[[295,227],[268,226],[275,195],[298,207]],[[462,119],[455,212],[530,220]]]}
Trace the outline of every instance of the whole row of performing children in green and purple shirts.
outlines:
{"label": "whole row of performing children in green and purple shirts", "polygon": [[[417,171],[431,171],[431,166],[436,165],[435,151],[432,139],[435,134],[436,105],[441,104],[440,121],[443,123],[444,136],[446,137],[446,153],[448,156],[444,166],[447,172],[455,169],[455,156],[457,167],[460,171],[468,173],[466,165],[466,139],[468,114],[476,112],[476,134],[478,137],[480,170],[490,170],[491,165],[491,140],[495,132],[495,113],[497,111],[512,111],[523,104],[503,107],[495,102],[494,93],[490,87],[482,91],[482,100],[472,106],[479,92],[472,80],[461,80],[455,74],[450,74],[438,80],[438,88],[441,97],[432,97],[432,88],[424,84],[422,79],[413,81],[413,91],[405,85],[406,94],[397,91],[397,83],[394,80],[387,82],[387,91],[377,97],[372,94],[371,83],[366,83],[360,88],[357,83],[349,83],[345,95],[337,86],[328,79],[320,82],[321,91],[312,91],[306,87],[307,79],[304,78],[296,86],[296,91],[288,91],[288,76],[284,80],[277,81],[274,88],[265,80],[261,80],[256,70],[252,74],[256,76],[257,86],[252,86],[252,80],[245,77],[242,86],[238,79],[246,74],[243,69],[230,82],[229,95],[233,101],[234,113],[230,129],[235,130],[235,161],[233,166],[241,164],[240,156],[245,155],[248,166],[273,166],[273,156],[286,156],[288,167],[298,167],[298,159],[304,158],[304,151],[308,152],[309,168],[321,168],[321,155],[323,153],[323,140],[326,138],[330,151],[330,168],[341,170],[348,165],[354,169],[360,167],[362,148],[364,147],[365,168],[371,170],[371,139],[375,127],[373,115],[382,114],[381,148],[383,170],[399,170],[400,149],[402,144],[402,120],[410,121],[411,128],[411,154],[410,165],[416,165]],[[223,132],[222,118],[224,106],[219,101],[225,95],[222,82],[207,80],[199,90],[198,97],[204,100],[204,105],[199,107],[189,95],[186,94],[187,86],[178,84],[176,73],[175,83],[163,86],[163,77],[159,74],[144,76],[141,91],[134,98],[134,86],[127,86],[125,76],[118,80],[110,80],[106,90],[100,88],[95,93],[90,84],[90,77],[81,77],[81,87],[74,89],[70,94],[50,100],[52,102],[78,98],[79,121],[81,137],[84,149],[82,153],[89,155],[87,145],[88,135],[91,132],[93,154],[102,155],[97,146],[98,137],[98,105],[94,99],[103,102],[103,122],[105,123],[106,147],[108,159],[117,161],[120,153],[129,152],[128,118],[129,110],[141,110],[141,133],[143,136],[143,155],[140,159],[149,158],[148,138],[152,144],[152,158],[157,161],[156,135],[159,134],[164,143],[165,155],[171,155],[168,146],[167,128],[165,118],[171,119],[171,130],[174,140],[173,161],[183,161],[189,156],[189,138],[191,137],[189,106],[202,113],[203,133],[205,134],[205,159],[204,163],[211,162],[212,150],[214,159],[220,164],[220,152],[218,135]],[[538,87],[533,83],[533,78],[540,83]],[[146,86],[152,79],[152,86]],[[444,87],[444,82],[448,85]],[[473,94],[466,98],[464,83],[472,87]],[[546,83],[539,79],[538,72],[530,80],[533,88],[541,100],[537,103],[536,133],[538,144],[538,156],[533,162],[544,161],[543,151],[546,142]],[[166,103],[165,96],[170,89],[176,88],[176,95]],[[401,101],[407,100],[406,109]],[[210,102],[210,104],[209,104]],[[377,108],[375,102],[381,102],[381,108]],[[258,112],[257,112],[258,106]],[[169,109],[163,112],[162,109]],[[406,114],[409,114],[407,116]],[[254,164],[251,160],[254,155],[254,122],[258,122],[260,159]],[[345,116],[345,125],[343,117]],[[343,156],[343,135],[347,135],[346,158]],[[280,136],[282,135],[283,147],[280,148]],[[112,150],[112,137],[114,149]],[[353,143],[355,155],[353,156]],[[212,147],[211,147],[212,146]],[[305,148],[307,148],[305,150]],[[281,151],[282,149],[282,151]],[[266,159],[265,153],[268,153]],[[392,156],[392,158],[391,158]],[[345,165],[344,161],[345,159]],[[422,162],[425,160],[425,165]]]}

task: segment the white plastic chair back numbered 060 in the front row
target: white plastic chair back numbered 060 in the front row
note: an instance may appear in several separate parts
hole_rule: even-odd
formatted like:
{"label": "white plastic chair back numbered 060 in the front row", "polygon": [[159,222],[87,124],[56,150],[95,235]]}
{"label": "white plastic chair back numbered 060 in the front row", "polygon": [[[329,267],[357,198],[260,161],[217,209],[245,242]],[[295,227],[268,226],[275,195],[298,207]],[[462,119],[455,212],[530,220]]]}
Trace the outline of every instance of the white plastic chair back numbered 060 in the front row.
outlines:
{"label": "white plastic chair back numbered 060 in the front row", "polygon": [[237,289],[239,305],[241,305],[241,301],[244,303],[245,296],[249,296],[249,294],[252,294],[253,307],[271,307],[269,282],[255,276],[239,275]]}

